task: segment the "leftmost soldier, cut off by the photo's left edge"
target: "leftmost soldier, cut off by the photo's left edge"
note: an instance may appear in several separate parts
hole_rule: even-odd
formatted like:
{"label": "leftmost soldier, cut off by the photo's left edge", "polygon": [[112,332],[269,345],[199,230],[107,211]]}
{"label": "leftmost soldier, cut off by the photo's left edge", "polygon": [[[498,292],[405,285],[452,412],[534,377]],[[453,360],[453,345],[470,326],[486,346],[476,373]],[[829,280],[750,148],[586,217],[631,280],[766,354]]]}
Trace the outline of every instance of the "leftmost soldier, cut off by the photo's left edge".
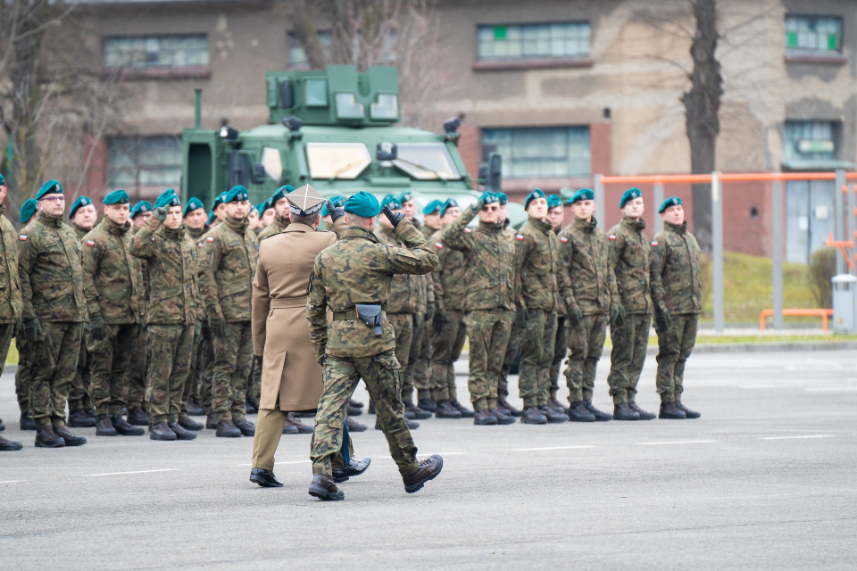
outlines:
{"label": "leftmost soldier, cut off by the photo's left edge", "polygon": [[[21,328],[21,281],[18,279],[18,233],[12,222],[5,217],[6,205],[6,179],[0,175],[0,375],[6,364],[6,355],[9,353],[9,345],[12,336],[17,335]],[[3,421],[0,420],[0,430],[3,430]],[[0,451],[16,451],[23,448],[23,444],[6,440],[0,436]]]}

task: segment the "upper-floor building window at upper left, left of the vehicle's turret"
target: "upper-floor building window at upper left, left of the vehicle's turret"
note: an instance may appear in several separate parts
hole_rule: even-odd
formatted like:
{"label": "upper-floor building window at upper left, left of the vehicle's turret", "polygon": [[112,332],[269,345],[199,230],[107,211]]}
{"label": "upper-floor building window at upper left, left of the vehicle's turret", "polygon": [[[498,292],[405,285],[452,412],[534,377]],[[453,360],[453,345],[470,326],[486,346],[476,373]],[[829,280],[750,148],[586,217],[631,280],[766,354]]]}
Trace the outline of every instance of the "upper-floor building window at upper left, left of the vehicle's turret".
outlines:
{"label": "upper-floor building window at upper left, left of the vehicle's turret", "polygon": [[108,68],[187,68],[208,65],[208,37],[122,36],[104,40]]}

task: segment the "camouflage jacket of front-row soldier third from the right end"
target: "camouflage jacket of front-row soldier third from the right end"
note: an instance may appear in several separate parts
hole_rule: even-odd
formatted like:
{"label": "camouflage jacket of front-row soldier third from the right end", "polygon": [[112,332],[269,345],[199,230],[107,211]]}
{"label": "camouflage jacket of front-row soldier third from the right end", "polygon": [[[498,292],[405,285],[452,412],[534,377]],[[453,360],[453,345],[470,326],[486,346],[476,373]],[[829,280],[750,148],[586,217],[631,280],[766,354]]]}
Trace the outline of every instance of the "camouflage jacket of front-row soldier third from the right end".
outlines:
{"label": "camouflage jacket of front-row soldier third from the right end", "polygon": [[565,297],[568,309],[577,308],[584,315],[606,315],[611,300],[619,300],[616,276],[608,263],[607,235],[595,218],[588,222],[574,219],[562,228],[560,247],[565,260],[563,271],[571,285],[571,295]]}

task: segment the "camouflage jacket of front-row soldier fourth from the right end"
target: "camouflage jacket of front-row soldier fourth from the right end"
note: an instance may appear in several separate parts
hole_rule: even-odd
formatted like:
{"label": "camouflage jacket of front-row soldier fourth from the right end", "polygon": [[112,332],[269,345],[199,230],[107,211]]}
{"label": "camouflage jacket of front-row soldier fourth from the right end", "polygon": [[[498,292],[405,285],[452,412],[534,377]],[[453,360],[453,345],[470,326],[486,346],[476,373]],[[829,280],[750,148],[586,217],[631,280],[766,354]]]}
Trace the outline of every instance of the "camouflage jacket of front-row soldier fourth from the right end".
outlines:
{"label": "camouflage jacket of front-row soldier fourth from the right end", "polygon": [[515,268],[520,279],[521,309],[556,310],[558,298],[565,297],[568,285],[560,272],[560,240],[547,220],[529,217],[515,235]]}

